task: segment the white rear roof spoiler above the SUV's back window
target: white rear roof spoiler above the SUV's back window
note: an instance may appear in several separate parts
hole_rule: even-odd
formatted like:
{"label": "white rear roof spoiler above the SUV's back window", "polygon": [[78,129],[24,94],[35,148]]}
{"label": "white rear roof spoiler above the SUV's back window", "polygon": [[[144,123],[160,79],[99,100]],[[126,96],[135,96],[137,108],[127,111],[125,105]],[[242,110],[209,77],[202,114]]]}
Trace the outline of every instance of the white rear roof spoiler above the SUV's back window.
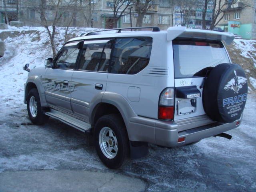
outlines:
{"label": "white rear roof spoiler above the SUV's back window", "polygon": [[209,40],[223,40],[226,44],[231,44],[235,36],[232,33],[218,32],[202,29],[188,29],[186,27],[169,27],[167,29],[167,40],[172,41],[177,37],[200,38]]}

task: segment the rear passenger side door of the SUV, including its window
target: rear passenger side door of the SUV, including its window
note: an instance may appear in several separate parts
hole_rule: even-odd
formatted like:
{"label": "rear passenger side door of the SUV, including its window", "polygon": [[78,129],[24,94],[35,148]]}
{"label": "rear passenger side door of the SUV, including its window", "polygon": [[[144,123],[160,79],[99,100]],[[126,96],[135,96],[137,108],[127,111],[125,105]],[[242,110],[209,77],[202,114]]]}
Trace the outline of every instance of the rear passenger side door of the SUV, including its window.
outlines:
{"label": "rear passenger side door of the SUV, including its window", "polygon": [[71,93],[74,115],[88,122],[91,102],[106,90],[113,39],[84,41],[78,69],[72,76]]}

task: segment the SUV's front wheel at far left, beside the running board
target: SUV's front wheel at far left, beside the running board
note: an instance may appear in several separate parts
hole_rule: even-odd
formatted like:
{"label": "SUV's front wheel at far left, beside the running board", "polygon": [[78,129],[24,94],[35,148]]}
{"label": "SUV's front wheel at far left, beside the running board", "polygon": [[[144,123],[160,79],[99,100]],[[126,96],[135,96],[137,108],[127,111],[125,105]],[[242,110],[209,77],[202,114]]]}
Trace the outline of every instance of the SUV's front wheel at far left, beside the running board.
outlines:
{"label": "SUV's front wheel at far left, beside the running board", "polygon": [[44,124],[48,120],[48,116],[42,110],[40,97],[37,89],[31,89],[27,96],[28,116],[34,124]]}

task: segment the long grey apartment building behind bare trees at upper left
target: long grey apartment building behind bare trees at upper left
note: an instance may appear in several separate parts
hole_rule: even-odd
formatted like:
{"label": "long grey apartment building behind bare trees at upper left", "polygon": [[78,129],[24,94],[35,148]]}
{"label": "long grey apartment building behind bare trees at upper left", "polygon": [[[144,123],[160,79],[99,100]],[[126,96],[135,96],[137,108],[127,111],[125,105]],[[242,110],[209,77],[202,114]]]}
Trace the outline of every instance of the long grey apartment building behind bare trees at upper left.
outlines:
{"label": "long grey apartment building behind bare trees at upper left", "polygon": [[[78,1],[79,2],[79,1]],[[61,22],[58,24],[63,24],[65,21],[69,20],[75,11],[75,22],[72,22],[71,25],[76,26],[93,26],[95,28],[114,28],[114,27],[130,27],[136,26],[136,21],[138,18],[138,13],[136,6],[129,6],[130,10],[126,9],[123,13],[124,16],[120,20],[115,20],[113,15],[114,2],[112,0],[91,0],[90,9],[83,3],[78,3],[78,8],[63,6],[60,10],[62,12]],[[40,12],[39,5],[40,0],[19,0],[17,6],[17,0],[6,0],[6,9],[8,12],[8,18],[10,21],[19,20],[23,21],[25,25],[39,26],[40,25]],[[49,21],[49,24],[54,19],[54,14],[52,14],[52,6],[47,3],[46,17]],[[18,8],[18,11],[17,11]],[[122,6],[117,14],[120,15],[122,9],[125,8],[125,5]],[[88,22],[86,15],[88,12],[92,12],[92,22]],[[130,22],[130,18],[132,22]],[[149,5],[149,9],[146,15],[143,18],[143,26],[158,26],[160,29],[167,29],[172,25],[172,16],[170,11],[170,2],[168,0],[154,0]],[[0,22],[6,22],[4,14],[4,4],[3,0],[0,0]]]}

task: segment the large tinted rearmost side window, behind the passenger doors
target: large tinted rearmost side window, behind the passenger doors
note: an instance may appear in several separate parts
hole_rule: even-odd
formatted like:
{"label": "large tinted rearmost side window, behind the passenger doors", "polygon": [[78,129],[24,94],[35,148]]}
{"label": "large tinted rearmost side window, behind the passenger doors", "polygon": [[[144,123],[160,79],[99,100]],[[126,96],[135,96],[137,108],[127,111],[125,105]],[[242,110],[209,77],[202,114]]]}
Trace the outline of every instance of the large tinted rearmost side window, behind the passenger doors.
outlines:
{"label": "large tinted rearmost side window, behind the passenger doors", "polygon": [[136,74],[149,62],[152,38],[118,38],[114,46],[110,73]]}

